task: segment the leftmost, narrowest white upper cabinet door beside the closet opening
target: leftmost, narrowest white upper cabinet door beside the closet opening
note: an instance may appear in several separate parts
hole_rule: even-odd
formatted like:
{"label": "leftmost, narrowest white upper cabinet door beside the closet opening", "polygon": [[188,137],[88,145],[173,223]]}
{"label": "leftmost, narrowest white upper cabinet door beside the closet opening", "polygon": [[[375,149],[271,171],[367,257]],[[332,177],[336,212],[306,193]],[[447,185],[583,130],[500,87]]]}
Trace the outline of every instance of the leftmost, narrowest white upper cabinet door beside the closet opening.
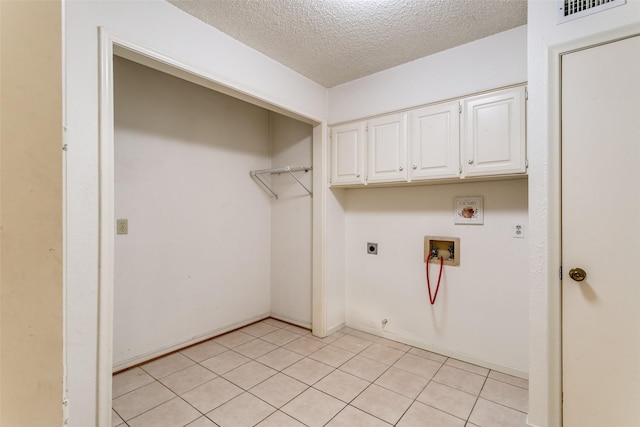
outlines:
{"label": "leftmost, narrowest white upper cabinet door beside the closet opening", "polygon": [[331,130],[331,184],[364,184],[366,122],[349,123]]}

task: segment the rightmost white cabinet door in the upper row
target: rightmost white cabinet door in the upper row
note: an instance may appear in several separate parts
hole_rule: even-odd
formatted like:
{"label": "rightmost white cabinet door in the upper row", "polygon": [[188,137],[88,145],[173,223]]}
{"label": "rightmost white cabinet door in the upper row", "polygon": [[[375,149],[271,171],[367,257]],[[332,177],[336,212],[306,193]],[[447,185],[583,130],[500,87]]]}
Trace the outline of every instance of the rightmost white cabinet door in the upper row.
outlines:
{"label": "rightmost white cabinet door in the upper row", "polygon": [[525,173],[525,88],[462,101],[464,177]]}

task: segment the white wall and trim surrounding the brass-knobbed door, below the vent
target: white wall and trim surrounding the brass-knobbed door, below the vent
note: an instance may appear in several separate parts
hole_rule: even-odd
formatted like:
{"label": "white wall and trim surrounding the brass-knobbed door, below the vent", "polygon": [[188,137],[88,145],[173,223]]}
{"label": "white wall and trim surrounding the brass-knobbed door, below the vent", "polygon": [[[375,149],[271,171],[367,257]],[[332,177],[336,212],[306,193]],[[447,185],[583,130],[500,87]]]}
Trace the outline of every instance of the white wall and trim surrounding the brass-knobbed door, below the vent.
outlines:
{"label": "white wall and trim surrounding the brass-knobbed door, below the vent", "polygon": [[559,63],[562,51],[640,32],[640,1],[556,24],[556,2],[528,7],[530,213],[529,415],[531,426],[561,423]]}

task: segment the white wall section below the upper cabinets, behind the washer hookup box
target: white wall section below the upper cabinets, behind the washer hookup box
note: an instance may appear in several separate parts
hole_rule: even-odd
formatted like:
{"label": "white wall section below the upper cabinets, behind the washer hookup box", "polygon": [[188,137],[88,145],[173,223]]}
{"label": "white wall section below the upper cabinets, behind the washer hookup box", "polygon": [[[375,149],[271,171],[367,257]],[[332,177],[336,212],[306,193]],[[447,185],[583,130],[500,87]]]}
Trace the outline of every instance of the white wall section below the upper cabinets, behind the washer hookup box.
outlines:
{"label": "white wall section below the upper cabinets, behind the washer hookup box", "polygon": [[[455,225],[454,197],[483,196],[484,225]],[[347,325],[527,376],[527,180],[347,191]],[[429,303],[424,236],[460,239]],[[526,236],[526,235],[525,235]],[[366,243],[378,243],[378,254]],[[439,266],[430,266],[435,292]],[[382,319],[388,323],[383,328]]]}

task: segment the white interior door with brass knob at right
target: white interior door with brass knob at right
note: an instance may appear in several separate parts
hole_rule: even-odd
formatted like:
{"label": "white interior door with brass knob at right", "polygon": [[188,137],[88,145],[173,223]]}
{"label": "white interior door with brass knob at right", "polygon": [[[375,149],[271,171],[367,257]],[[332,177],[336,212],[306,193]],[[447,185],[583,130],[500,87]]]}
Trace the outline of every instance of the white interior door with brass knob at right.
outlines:
{"label": "white interior door with brass knob at right", "polygon": [[565,427],[640,426],[639,183],[640,36],[564,55]]}

